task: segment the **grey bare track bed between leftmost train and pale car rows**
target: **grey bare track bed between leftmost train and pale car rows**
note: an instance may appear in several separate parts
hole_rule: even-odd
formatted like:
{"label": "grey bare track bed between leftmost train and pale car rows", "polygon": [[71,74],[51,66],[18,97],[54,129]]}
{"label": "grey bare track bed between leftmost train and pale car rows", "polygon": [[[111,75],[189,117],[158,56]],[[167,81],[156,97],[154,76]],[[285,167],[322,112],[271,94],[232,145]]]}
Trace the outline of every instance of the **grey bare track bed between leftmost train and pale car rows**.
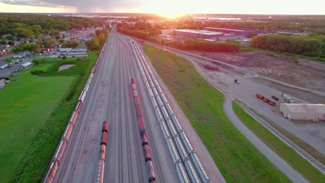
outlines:
{"label": "grey bare track bed between leftmost train and pale car rows", "polygon": [[147,182],[131,78],[138,81],[156,179],[178,182],[134,58],[128,40],[111,33],[54,182],[95,182],[104,120],[110,123],[104,182]]}

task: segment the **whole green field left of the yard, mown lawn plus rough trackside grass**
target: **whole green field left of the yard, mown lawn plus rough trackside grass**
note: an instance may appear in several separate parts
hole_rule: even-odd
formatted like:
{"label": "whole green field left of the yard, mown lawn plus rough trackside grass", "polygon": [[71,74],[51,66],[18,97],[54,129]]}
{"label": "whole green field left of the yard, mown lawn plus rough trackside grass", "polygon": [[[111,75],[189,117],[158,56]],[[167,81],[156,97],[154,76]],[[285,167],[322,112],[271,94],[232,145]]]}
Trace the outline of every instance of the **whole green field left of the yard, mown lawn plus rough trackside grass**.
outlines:
{"label": "whole green field left of the yard, mown lawn plus rough trackside grass", "polygon": [[[47,59],[0,90],[0,182],[40,182],[98,52],[90,59]],[[56,72],[63,64],[76,66]],[[45,75],[33,76],[31,71]]]}

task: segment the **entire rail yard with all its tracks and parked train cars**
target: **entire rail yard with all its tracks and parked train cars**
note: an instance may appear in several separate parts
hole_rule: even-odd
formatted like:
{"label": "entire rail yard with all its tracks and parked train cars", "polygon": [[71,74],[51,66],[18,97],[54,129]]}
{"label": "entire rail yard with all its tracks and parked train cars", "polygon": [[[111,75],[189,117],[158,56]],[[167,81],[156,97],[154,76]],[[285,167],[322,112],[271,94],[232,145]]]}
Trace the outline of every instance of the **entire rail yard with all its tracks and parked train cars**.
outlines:
{"label": "entire rail yard with all its tracks and parked train cars", "polygon": [[43,181],[225,182],[137,44],[110,34]]}

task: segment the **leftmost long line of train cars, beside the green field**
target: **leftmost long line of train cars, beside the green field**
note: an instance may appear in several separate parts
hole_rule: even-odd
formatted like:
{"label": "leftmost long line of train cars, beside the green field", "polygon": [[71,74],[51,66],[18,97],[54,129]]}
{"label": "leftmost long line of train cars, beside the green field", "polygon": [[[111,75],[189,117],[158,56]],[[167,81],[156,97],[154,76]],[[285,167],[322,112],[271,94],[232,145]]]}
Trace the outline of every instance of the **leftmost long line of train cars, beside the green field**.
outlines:
{"label": "leftmost long line of train cars, beside the green field", "polygon": [[87,83],[83,88],[83,92],[81,92],[81,95],[78,98],[78,103],[76,104],[76,107],[74,108],[74,112],[72,113],[72,116],[70,117],[69,122],[67,123],[65,132],[63,133],[63,136],[61,137],[61,140],[58,144],[58,147],[56,148],[56,152],[54,153],[51,162],[47,167],[47,171],[44,174],[42,182],[51,183],[54,180],[56,171],[58,171],[58,166],[60,166],[61,159],[63,157],[63,154],[65,153],[65,148],[67,147],[67,143],[69,142],[69,138],[72,134],[72,130],[74,129],[74,125],[76,123],[76,120],[78,119],[78,114],[85,101],[85,96],[88,93],[88,89],[92,82],[92,78],[94,78],[94,74],[96,73],[97,67],[99,66],[99,62],[101,61],[101,55],[103,54],[103,50],[105,49],[105,47],[106,44],[104,44],[103,49],[101,50],[101,53],[99,54],[99,57],[97,58],[94,67],[92,68]]}

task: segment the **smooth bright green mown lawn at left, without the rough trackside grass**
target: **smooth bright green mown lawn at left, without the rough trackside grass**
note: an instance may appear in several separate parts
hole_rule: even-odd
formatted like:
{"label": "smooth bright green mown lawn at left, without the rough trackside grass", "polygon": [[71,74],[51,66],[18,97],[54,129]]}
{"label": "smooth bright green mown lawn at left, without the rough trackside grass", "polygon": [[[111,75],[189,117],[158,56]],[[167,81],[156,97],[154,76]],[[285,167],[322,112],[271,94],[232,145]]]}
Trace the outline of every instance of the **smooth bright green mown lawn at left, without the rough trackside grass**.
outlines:
{"label": "smooth bright green mown lawn at left, without the rough trackside grass", "polygon": [[[32,69],[46,69],[48,64]],[[69,89],[74,77],[19,73],[0,89],[0,182],[8,182],[26,148]]]}

